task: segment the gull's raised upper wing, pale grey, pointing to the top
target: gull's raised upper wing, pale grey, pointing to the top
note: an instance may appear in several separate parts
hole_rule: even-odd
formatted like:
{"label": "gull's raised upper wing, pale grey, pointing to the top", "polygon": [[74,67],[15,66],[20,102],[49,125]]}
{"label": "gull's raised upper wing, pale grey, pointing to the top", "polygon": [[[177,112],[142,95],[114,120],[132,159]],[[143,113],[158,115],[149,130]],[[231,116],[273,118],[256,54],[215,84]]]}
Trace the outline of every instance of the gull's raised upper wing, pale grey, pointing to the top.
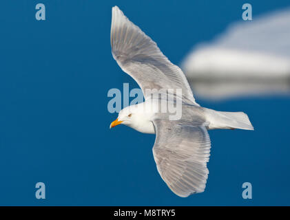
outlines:
{"label": "gull's raised upper wing, pale grey, pointing to the top", "polygon": [[144,96],[147,95],[145,89],[182,89],[182,98],[196,104],[181,69],[173,65],[156,43],[117,6],[112,8],[111,46],[114,59],[136,80]]}

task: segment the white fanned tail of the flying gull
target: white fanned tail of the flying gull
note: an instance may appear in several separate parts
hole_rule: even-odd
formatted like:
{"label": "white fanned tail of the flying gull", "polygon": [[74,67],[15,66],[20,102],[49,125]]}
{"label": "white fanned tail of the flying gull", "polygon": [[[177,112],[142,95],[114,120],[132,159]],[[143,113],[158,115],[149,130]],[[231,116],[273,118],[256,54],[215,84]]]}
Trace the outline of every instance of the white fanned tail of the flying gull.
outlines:
{"label": "white fanned tail of the flying gull", "polygon": [[215,111],[205,109],[208,129],[244,129],[253,130],[253,126],[246,113]]}

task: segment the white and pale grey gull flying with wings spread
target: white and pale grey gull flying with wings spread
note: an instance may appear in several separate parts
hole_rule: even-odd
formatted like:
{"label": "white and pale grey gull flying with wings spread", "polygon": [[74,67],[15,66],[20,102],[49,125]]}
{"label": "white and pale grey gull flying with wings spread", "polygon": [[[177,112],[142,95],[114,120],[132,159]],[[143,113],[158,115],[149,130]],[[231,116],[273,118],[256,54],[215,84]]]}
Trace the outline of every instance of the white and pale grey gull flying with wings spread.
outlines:
{"label": "white and pale grey gull flying with wings spread", "polygon": [[[207,130],[253,130],[247,114],[200,107],[181,69],[117,6],[112,8],[111,46],[118,65],[141,87],[145,102],[122,109],[110,128],[125,124],[142,133],[156,133],[153,155],[167,186],[180,197],[203,192],[211,148]],[[145,93],[147,89],[153,89],[152,94]],[[168,89],[167,104],[182,100],[178,120],[170,120],[169,113],[160,112],[161,98],[154,96],[154,89]],[[170,93],[169,89],[182,89],[182,95]]]}

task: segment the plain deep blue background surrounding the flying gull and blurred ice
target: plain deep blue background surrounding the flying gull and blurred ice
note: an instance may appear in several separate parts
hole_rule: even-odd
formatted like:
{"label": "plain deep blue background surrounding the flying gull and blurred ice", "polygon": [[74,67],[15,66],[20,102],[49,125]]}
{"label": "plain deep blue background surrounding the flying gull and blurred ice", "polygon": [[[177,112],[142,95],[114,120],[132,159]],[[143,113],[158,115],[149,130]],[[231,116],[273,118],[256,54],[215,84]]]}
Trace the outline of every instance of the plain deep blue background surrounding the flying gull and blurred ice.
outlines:
{"label": "plain deep blue background surrounding the flying gull and blurred ice", "polygon": [[[46,21],[35,19],[37,3]],[[111,54],[111,8],[118,5],[180,63],[196,43],[210,41],[242,4],[258,14],[285,1],[73,1],[0,3],[0,205],[262,206],[290,205],[290,98],[206,102],[245,111],[256,131],[209,131],[212,148],[205,192],[180,198],[158,175],[154,135],[126,126],[110,130],[107,91],[138,87]],[[250,36],[245,36],[245,39]],[[34,196],[43,181],[46,199]],[[242,199],[251,182],[253,199]]]}

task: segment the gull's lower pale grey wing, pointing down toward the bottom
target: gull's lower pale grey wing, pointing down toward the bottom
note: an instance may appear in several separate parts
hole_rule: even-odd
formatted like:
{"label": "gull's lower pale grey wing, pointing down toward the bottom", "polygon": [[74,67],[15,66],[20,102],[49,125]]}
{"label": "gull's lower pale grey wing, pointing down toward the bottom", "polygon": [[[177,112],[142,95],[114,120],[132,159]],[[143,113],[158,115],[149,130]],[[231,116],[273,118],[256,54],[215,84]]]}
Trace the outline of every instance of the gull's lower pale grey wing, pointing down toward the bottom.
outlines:
{"label": "gull's lower pale grey wing, pointing down toward the bottom", "polygon": [[154,127],[153,155],[167,186],[180,197],[203,192],[209,173],[207,162],[211,148],[205,126],[154,120]]}

